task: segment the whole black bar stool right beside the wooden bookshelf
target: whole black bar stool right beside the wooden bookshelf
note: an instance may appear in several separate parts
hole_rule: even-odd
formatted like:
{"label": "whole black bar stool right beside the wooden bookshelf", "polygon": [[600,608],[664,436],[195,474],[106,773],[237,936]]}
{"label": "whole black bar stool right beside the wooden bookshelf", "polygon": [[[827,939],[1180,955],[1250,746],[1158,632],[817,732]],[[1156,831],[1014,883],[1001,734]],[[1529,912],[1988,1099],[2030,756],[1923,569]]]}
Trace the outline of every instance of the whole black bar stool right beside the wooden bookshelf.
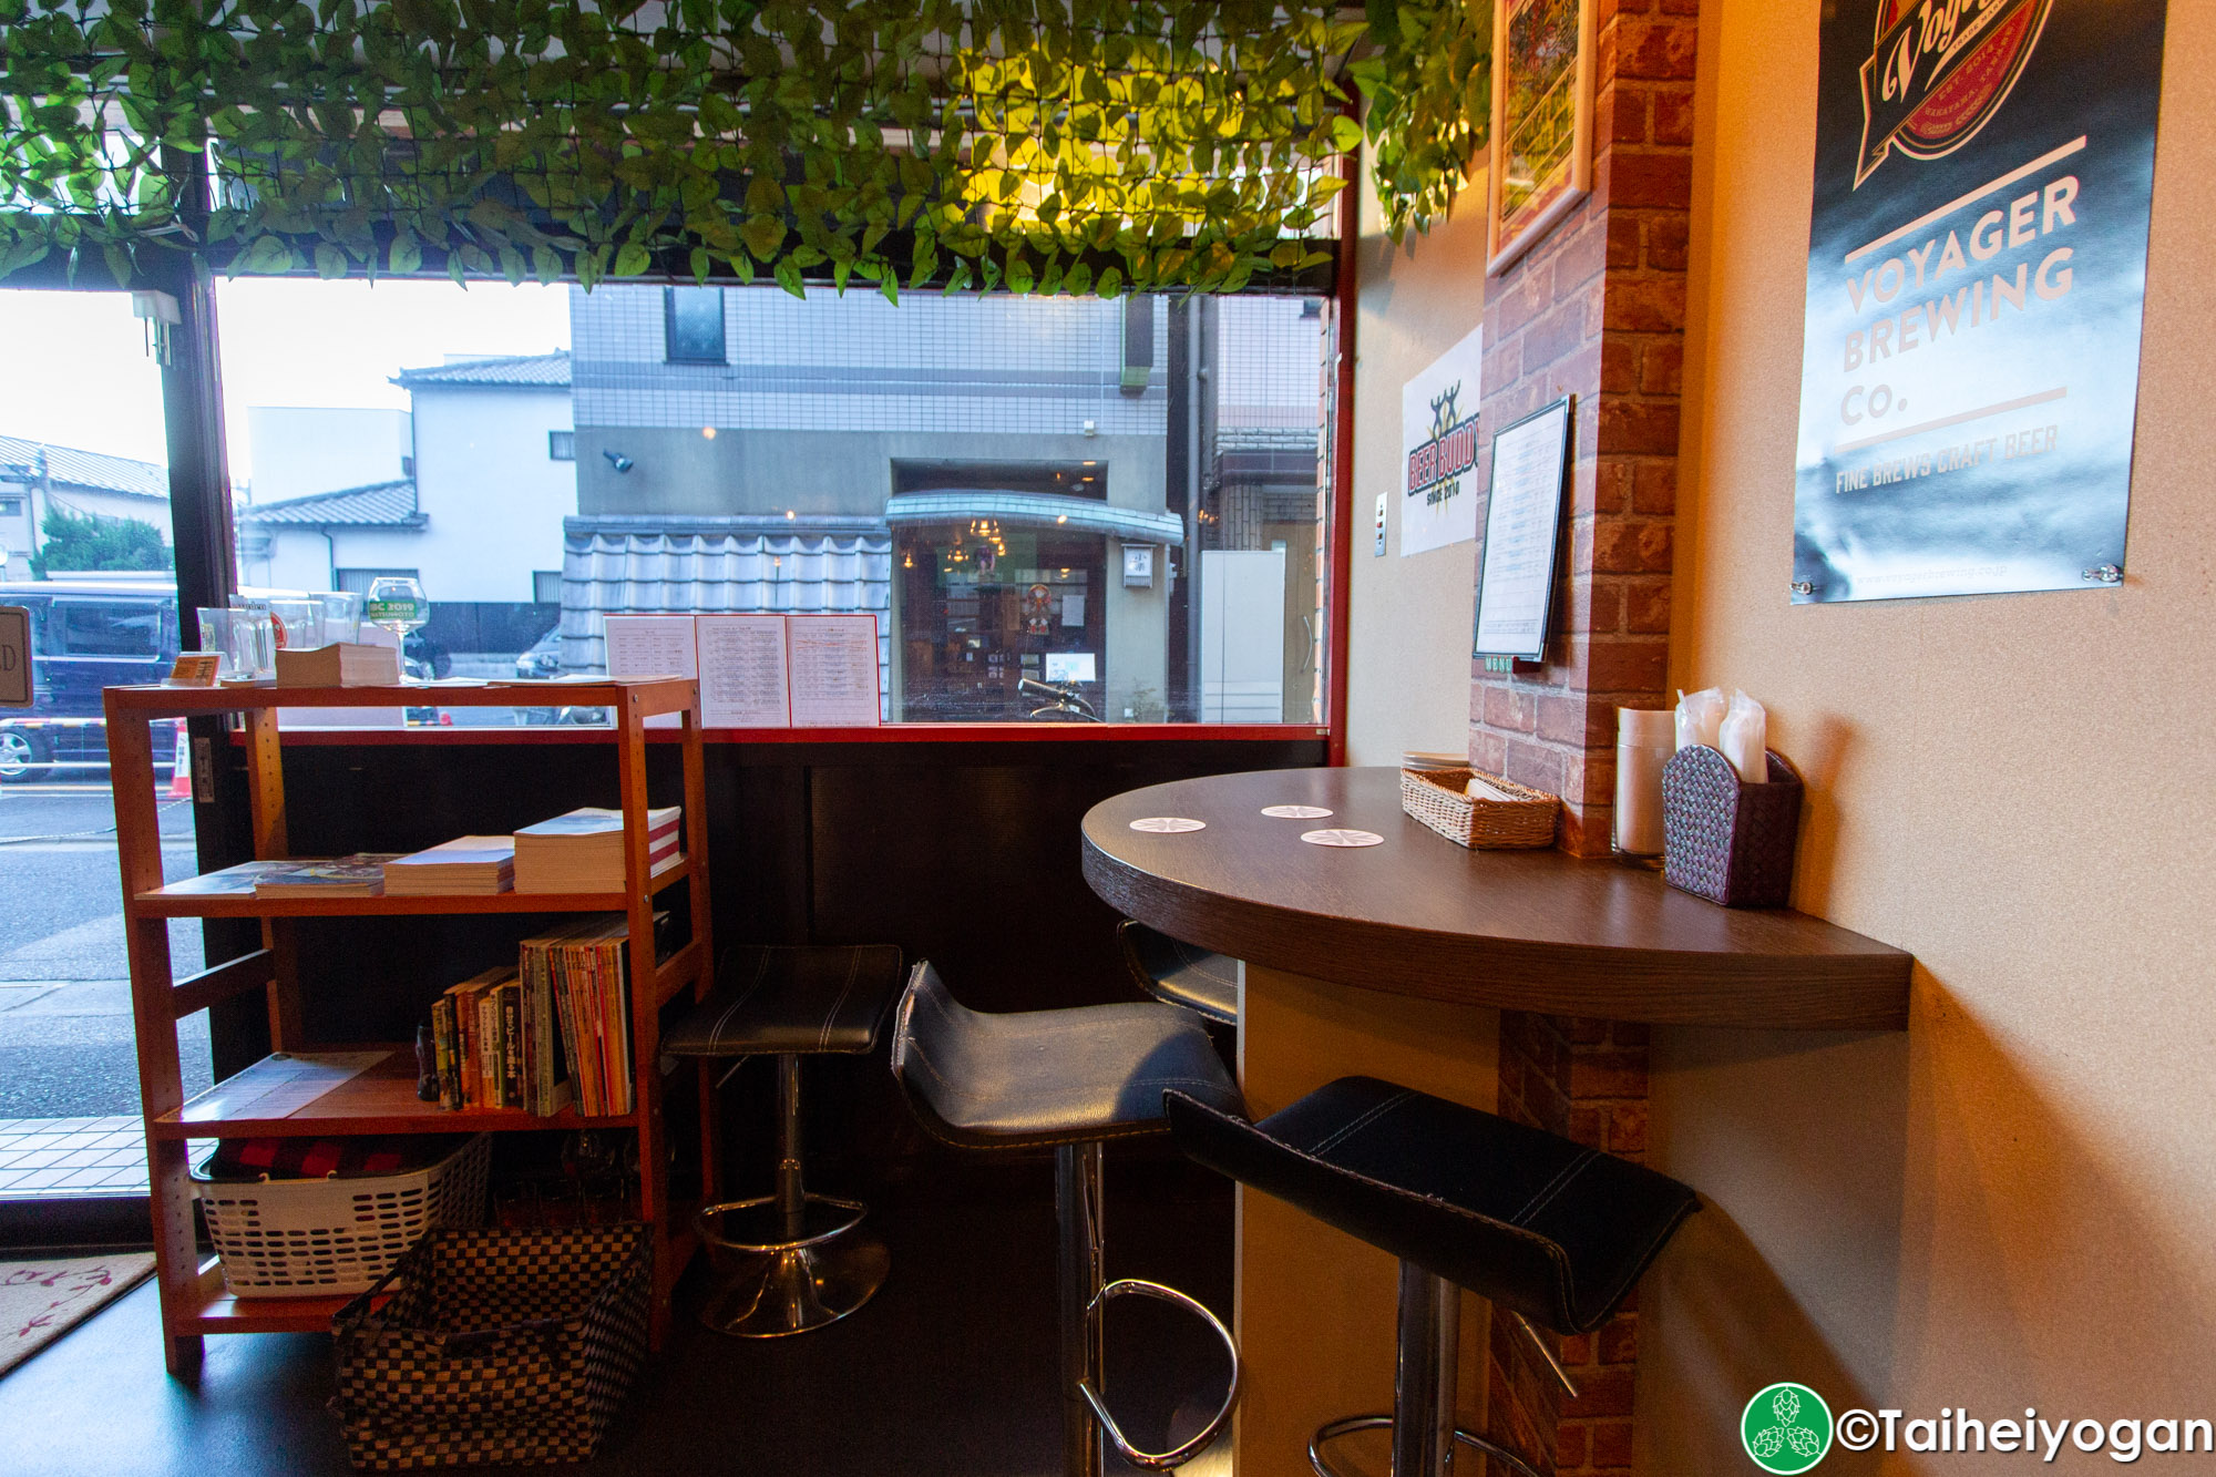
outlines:
{"label": "whole black bar stool right beside the wooden bookshelf", "polygon": [[[702,1206],[696,1224],[718,1262],[700,1322],[742,1337],[804,1333],[847,1317],[884,1284],[891,1255],[862,1235],[860,1200],[811,1195],[800,1173],[800,1058],[864,1053],[900,991],[891,945],[738,947],[716,991],[663,1038],[669,1056],[778,1058],[773,1193]],[[725,1080],[729,1080],[729,1071]]]}

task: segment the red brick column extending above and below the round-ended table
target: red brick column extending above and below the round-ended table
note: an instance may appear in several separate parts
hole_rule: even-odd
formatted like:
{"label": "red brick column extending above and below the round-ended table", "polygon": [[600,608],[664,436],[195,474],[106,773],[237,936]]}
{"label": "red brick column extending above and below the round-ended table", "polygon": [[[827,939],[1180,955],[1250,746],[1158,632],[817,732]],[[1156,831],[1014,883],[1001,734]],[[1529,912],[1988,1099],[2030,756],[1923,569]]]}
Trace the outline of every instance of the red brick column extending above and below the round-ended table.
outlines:
{"label": "red brick column extending above and below the round-ended table", "polygon": [[[1593,2],[1593,191],[1485,284],[1483,424],[1578,397],[1556,630],[1536,670],[1478,663],[1469,692],[1471,763],[1560,794],[1560,845],[1576,856],[1609,852],[1615,707],[1664,705],[1700,9]],[[1500,1111],[1640,1158],[1646,1027],[1505,1011]],[[1629,1470],[1631,1304],[1560,1342],[1578,1399],[1507,1320],[1494,1320],[1489,1353],[1496,1439],[1562,1477]]]}

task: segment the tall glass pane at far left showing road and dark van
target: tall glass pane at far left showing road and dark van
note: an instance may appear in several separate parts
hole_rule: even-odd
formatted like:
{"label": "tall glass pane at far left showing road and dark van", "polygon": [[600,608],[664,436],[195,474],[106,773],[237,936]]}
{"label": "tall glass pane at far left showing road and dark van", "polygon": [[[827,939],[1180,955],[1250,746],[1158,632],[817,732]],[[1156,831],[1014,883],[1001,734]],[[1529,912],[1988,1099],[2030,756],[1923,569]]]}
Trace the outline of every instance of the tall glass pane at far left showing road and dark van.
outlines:
{"label": "tall glass pane at far left showing road and dark van", "polygon": [[[31,614],[31,707],[0,710],[0,1200],[144,1195],[144,1129],[100,690],[182,645],[162,375],[131,299],[0,288],[0,605]],[[191,612],[184,612],[191,621]],[[195,867],[191,776],[155,727],[162,867]],[[177,974],[202,958],[175,920]],[[208,1018],[177,1022],[186,1091]]]}

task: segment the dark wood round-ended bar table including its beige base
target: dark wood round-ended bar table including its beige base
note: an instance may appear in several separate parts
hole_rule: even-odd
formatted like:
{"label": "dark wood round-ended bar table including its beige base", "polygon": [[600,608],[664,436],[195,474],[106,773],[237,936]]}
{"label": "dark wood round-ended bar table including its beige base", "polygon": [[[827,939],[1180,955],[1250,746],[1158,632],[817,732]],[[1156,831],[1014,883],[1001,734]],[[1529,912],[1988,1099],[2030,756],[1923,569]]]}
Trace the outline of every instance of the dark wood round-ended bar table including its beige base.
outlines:
{"label": "dark wood round-ended bar table including its beige base", "polygon": [[[1332,814],[1261,814],[1279,805]],[[1132,829],[1155,818],[1203,825]],[[1325,827],[1383,841],[1301,841]],[[1901,949],[1791,909],[1715,907],[1642,867],[1469,852],[1401,812],[1398,770],[1132,790],[1086,814],[1084,872],[1126,916],[1241,960],[1239,1084],[1256,1118],[1347,1073],[1494,1109],[1500,1009],[1691,1027],[1908,1025]],[[1239,1191],[1239,1473],[1305,1470],[1321,1422],[1392,1406],[1394,1277],[1383,1251]],[[1471,1306],[1463,1326],[1487,1320]],[[1463,1424],[1483,1422],[1480,1348],[1460,1362]]]}

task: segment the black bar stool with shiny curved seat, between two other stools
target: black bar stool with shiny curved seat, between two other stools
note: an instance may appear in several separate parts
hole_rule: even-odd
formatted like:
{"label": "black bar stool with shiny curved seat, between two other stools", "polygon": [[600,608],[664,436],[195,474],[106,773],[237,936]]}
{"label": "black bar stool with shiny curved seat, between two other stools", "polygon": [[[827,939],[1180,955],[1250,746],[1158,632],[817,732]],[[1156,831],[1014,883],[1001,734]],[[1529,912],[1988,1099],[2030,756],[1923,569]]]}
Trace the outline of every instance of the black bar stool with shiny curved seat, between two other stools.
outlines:
{"label": "black bar stool with shiny curved seat, between two other stools", "polygon": [[[893,1022],[893,1076],[924,1129],[957,1149],[1053,1149],[1061,1284],[1061,1468],[1099,1477],[1101,1437],[1137,1466],[1190,1461],[1239,1399],[1239,1346],[1199,1302],[1155,1282],[1101,1284],[1101,1144],[1166,1133],[1163,1091],[1210,1111],[1239,1111],[1223,1060],[1201,1022],[1155,1002],[1086,1005],[988,1016],[946,994],[917,962]],[[1208,1320],[1232,1359],[1223,1408],[1168,1453],[1135,1448],[1101,1402],[1101,1304],[1157,1297]]]}

